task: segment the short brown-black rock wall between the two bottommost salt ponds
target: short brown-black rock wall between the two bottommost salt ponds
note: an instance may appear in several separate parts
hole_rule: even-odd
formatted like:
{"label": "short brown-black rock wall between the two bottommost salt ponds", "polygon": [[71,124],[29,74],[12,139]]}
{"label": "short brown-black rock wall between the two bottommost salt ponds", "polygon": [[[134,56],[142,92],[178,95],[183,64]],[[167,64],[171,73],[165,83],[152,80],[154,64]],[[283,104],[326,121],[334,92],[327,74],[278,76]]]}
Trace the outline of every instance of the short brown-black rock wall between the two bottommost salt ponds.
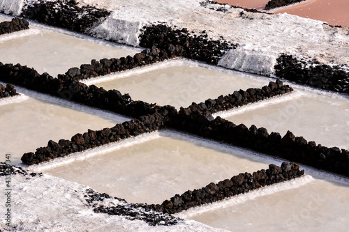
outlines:
{"label": "short brown-black rock wall between the two bottommost salt ponds", "polygon": [[[267,170],[262,169],[252,174],[239,173],[239,175],[220,181],[217,184],[209,183],[206,187],[198,190],[188,190],[181,195],[176,194],[170,200],[163,201],[161,205],[137,204],[137,206],[171,215],[196,206],[222,201],[238,194],[246,194],[247,192],[258,190],[260,187],[299,178],[303,175],[304,170],[300,171],[299,166],[293,162],[283,162],[281,167],[270,164]],[[104,212],[113,215],[116,210],[116,207],[100,206],[95,212]]]}

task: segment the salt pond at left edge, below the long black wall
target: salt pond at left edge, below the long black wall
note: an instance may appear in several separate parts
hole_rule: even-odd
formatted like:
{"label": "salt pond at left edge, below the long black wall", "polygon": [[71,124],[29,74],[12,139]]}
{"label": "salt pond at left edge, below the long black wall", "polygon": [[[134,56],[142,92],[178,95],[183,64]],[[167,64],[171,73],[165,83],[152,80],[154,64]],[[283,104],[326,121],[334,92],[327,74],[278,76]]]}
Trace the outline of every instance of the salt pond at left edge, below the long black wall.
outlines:
{"label": "salt pond at left edge, below the long black wall", "polygon": [[[80,109],[76,109],[80,108]],[[47,146],[52,139],[70,139],[74,134],[101,130],[122,123],[122,119],[99,116],[101,111],[66,107],[58,103],[29,98],[0,106],[0,162],[11,155],[11,164],[20,164],[24,153]]]}

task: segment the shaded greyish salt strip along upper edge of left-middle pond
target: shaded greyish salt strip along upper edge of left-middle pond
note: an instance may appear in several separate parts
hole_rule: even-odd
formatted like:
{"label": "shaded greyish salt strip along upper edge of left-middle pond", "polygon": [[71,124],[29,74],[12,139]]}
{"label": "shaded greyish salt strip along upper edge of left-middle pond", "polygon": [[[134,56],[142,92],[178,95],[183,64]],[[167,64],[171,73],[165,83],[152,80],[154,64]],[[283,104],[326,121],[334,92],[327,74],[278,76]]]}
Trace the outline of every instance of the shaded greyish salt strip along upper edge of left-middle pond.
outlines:
{"label": "shaded greyish salt strip along upper edge of left-middle pond", "polygon": [[[0,82],[0,84],[6,85],[6,83],[4,83],[4,82]],[[31,91],[27,88],[22,88],[20,86],[15,86],[15,89],[17,90],[17,93],[21,93],[21,95],[26,96],[25,100],[27,100],[28,97],[29,98],[36,98],[36,99],[44,100],[47,102],[52,102],[54,104],[59,104],[59,105],[64,106],[64,107],[70,107],[70,108],[73,108],[77,111],[83,111],[83,112],[88,113],[88,114],[98,115],[98,116],[101,116],[103,118],[114,119],[117,121],[130,121],[131,120],[131,118],[121,116],[120,114],[116,114],[116,113],[101,110],[101,109],[96,109],[93,107],[87,107],[85,105],[80,105],[80,104],[72,102],[70,100],[65,100],[63,98],[54,97],[52,95],[48,95],[48,94],[44,94],[44,93],[38,93],[36,91]],[[20,100],[18,102],[22,102],[22,100]]]}

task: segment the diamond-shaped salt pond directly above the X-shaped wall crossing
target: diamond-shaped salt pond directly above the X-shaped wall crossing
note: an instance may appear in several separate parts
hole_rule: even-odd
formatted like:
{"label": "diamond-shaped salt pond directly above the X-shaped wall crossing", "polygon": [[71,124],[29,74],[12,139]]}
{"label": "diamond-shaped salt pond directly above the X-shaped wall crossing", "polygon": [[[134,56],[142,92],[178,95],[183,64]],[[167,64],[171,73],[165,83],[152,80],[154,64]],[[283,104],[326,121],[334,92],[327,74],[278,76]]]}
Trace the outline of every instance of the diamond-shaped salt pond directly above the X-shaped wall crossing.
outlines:
{"label": "diamond-shaped salt pond directly above the X-shaped wall crossing", "polygon": [[99,79],[95,79],[86,83],[129,93],[133,100],[172,105],[177,109],[188,107],[192,102],[205,102],[208,98],[269,84],[269,79],[265,77],[186,60],[168,61],[158,65],[158,68],[143,70],[133,75],[132,72],[130,75],[111,75],[111,80],[106,82],[98,83]]}

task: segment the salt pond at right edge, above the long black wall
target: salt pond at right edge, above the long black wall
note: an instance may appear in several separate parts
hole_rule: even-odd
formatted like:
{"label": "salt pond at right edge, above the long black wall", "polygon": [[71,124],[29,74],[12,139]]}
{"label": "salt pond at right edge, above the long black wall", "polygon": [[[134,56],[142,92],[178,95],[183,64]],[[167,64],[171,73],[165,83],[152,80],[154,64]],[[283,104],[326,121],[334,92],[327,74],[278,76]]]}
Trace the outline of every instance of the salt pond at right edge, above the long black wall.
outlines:
{"label": "salt pond at right edge, above the long black wall", "polygon": [[254,124],[282,136],[290,130],[295,136],[322,146],[349,149],[348,97],[316,91],[299,92],[302,93],[299,98],[255,109],[251,107],[247,111],[238,109],[232,111],[231,116],[222,116],[237,125],[244,123],[250,127]]}

